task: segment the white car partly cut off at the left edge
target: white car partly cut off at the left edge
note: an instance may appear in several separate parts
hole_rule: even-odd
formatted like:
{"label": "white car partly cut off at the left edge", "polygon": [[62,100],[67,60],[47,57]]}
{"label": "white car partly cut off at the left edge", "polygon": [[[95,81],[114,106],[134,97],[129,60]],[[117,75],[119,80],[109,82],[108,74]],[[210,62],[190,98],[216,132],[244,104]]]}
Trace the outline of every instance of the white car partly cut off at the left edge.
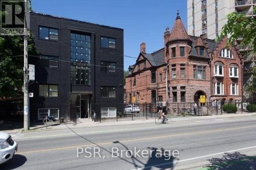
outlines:
{"label": "white car partly cut off at the left edge", "polygon": [[0,164],[12,159],[18,144],[12,140],[10,134],[0,132]]}

